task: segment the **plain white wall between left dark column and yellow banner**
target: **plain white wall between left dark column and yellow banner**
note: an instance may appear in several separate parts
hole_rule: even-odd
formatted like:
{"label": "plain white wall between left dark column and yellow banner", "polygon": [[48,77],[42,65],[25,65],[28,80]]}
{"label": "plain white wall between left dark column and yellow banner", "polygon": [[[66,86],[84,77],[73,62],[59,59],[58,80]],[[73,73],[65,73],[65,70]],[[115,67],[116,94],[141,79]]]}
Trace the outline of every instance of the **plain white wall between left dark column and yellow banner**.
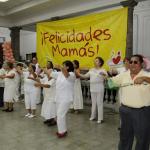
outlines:
{"label": "plain white wall between left dark column and yellow banner", "polygon": [[26,59],[26,54],[36,52],[36,32],[20,31],[20,55]]}

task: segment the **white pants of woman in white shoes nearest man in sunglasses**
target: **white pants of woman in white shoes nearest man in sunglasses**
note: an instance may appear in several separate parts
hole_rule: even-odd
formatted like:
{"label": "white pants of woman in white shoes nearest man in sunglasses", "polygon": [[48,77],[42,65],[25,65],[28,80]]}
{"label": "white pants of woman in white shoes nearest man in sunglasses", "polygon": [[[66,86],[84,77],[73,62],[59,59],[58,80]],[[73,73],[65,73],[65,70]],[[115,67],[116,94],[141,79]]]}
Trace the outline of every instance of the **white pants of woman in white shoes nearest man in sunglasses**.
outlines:
{"label": "white pants of woman in white shoes nearest man in sunglasses", "polygon": [[104,91],[101,92],[91,92],[92,99],[92,109],[91,109],[91,118],[96,118],[96,110],[98,110],[98,120],[103,120],[103,97]]}

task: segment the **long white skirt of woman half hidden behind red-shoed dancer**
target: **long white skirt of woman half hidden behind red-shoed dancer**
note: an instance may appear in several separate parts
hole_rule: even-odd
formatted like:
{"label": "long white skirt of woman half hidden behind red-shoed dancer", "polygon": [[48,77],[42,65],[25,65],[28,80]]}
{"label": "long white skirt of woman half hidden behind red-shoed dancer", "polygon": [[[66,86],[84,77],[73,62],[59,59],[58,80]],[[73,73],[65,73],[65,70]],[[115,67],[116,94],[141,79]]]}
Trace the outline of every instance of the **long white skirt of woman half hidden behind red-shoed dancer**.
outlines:
{"label": "long white skirt of woman half hidden behind red-shoed dancer", "polygon": [[76,79],[75,84],[74,84],[73,108],[75,110],[83,109],[83,96],[82,96],[82,89],[81,89],[80,79]]}

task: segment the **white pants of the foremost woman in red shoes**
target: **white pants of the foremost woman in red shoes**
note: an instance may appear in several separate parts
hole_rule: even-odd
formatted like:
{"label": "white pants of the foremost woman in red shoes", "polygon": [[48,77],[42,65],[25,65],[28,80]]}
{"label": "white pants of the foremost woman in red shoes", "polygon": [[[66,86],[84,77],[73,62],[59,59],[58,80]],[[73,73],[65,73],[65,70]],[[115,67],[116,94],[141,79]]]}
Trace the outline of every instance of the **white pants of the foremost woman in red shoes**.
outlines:
{"label": "white pants of the foremost woman in red shoes", "polygon": [[56,102],[58,133],[64,133],[67,131],[66,115],[70,105],[71,102]]}

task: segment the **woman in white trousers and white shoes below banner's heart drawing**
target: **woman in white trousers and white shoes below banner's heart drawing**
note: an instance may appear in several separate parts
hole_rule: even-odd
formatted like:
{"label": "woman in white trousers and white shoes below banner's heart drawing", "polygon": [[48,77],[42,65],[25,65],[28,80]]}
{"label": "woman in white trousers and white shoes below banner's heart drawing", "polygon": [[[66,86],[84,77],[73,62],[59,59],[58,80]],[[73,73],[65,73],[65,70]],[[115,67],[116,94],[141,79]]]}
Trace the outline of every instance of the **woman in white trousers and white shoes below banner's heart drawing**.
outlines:
{"label": "woman in white trousers and white shoes below banner's heart drawing", "polygon": [[90,69],[85,75],[78,72],[76,74],[81,78],[90,78],[90,92],[92,100],[92,109],[90,120],[96,119],[96,110],[98,110],[97,123],[103,122],[103,97],[104,97],[104,75],[107,75],[105,69],[102,68],[104,60],[96,57],[94,60],[95,67]]}

